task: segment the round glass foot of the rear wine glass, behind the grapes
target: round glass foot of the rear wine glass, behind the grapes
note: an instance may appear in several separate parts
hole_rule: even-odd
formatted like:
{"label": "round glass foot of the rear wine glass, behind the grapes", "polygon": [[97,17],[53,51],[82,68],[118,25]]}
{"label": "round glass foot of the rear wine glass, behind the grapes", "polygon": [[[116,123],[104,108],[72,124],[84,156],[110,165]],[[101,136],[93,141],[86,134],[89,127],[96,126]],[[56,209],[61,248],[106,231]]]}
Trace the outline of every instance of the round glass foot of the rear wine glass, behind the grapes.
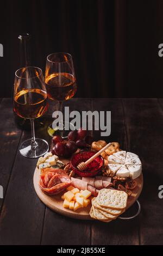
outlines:
{"label": "round glass foot of the rear wine glass, behind the grapes", "polygon": [[[68,123],[68,122],[63,122],[64,125],[65,123]],[[75,127],[72,123],[68,123],[68,126],[70,127],[70,130],[59,130],[58,127],[56,127],[55,129],[53,129],[52,127],[52,124],[50,124],[48,126],[48,129],[47,129],[47,132],[48,132],[48,135],[53,137],[55,135],[59,135],[60,137],[62,137],[63,139],[67,139],[67,136],[68,136],[68,133],[71,131],[71,130],[75,130]]]}

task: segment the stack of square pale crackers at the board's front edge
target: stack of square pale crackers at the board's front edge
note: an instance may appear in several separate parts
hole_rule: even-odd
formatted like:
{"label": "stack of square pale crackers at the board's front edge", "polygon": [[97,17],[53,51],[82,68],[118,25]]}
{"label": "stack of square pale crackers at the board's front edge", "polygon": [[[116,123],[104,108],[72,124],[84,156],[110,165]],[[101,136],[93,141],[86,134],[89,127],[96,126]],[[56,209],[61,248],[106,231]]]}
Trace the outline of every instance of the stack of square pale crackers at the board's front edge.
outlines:
{"label": "stack of square pale crackers at the board's front edge", "polygon": [[125,211],[127,197],[126,192],[103,188],[92,199],[90,216],[103,222],[115,220]]}

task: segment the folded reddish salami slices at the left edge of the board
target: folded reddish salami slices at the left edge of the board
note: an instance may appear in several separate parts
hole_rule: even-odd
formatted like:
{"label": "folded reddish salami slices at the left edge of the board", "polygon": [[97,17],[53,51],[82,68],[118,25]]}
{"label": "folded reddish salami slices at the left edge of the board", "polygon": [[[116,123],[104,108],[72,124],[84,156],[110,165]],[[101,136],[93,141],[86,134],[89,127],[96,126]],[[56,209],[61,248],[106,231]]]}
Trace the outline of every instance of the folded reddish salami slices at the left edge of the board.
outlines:
{"label": "folded reddish salami slices at the left edge of the board", "polygon": [[71,180],[67,175],[60,174],[63,172],[58,170],[60,169],[46,168],[46,171],[41,174],[39,185],[43,192],[51,195],[59,194],[70,186]]}

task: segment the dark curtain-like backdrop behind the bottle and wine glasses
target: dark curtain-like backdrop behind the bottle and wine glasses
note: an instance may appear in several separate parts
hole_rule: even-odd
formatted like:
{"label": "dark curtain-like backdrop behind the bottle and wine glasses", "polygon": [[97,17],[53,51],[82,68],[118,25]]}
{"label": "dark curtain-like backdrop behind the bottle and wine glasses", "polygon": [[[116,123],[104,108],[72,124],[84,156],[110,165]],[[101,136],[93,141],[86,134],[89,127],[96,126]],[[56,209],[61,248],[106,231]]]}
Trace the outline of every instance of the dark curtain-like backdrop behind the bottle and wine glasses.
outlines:
{"label": "dark curtain-like backdrop behind the bottle and wine glasses", "polygon": [[162,97],[163,1],[1,1],[1,97],[20,68],[19,42],[32,34],[32,64],[52,52],[73,56],[78,97]]}

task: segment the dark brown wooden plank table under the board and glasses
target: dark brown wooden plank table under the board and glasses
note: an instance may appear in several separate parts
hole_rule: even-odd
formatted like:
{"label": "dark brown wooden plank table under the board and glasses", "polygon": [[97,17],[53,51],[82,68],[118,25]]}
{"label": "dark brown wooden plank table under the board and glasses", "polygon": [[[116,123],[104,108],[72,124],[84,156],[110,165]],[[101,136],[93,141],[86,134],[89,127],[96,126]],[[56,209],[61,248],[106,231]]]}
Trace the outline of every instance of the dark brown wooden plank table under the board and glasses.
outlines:
{"label": "dark brown wooden plank table under the board and glasses", "polygon": [[[111,111],[111,135],[122,149],[138,154],[143,164],[144,187],[141,214],[134,220],[110,223],[73,220],[61,216],[40,201],[33,187],[36,159],[20,155],[18,147],[30,131],[15,125],[11,99],[0,101],[0,199],[1,245],[159,245],[163,244],[163,99],[71,99],[71,110]],[[58,108],[51,102],[47,117]],[[99,132],[95,132],[96,139]],[[47,139],[46,127],[36,137]],[[104,138],[106,139],[106,138]],[[131,213],[131,210],[129,214]]]}

